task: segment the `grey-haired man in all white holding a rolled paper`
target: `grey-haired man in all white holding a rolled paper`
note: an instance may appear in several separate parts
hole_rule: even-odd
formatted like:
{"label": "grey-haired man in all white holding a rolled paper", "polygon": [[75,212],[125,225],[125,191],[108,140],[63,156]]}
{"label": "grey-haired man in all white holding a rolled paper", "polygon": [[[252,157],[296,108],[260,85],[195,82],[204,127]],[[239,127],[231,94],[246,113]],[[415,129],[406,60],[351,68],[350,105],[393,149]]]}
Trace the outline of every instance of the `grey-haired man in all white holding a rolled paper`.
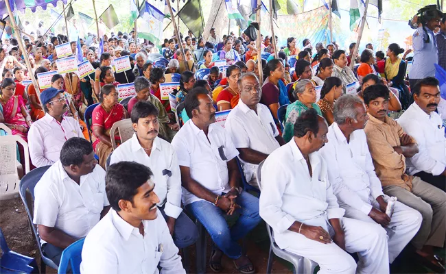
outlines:
{"label": "grey-haired man in all white holding a rolled paper", "polygon": [[366,108],[356,95],[343,95],[334,106],[334,123],[329,127],[328,144],[320,150],[327,161],[333,192],[345,216],[381,225],[388,233],[388,261],[397,258],[418,232],[422,216],[397,201],[393,214],[386,214],[390,197],[382,192],[368,151],[364,126]]}

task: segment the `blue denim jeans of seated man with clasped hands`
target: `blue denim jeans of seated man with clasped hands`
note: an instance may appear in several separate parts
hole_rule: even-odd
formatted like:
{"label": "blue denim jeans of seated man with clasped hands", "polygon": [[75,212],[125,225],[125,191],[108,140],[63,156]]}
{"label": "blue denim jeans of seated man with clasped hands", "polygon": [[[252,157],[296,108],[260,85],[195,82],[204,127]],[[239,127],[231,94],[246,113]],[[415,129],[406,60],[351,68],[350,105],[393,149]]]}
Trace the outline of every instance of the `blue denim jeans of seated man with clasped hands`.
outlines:
{"label": "blue denim jeans of seated man with clasped hands", "polygon": [[237,210],[240,215],[231,229],[224,219],[226,212],[214,206],[213,203],[202,200],[186,206],[186,209],[206,228],[215,245],[231,259],[242,256],[242,247],[237,241],[244,238],[261,221],[257,197],[242,191],[235,202],[242,208]]}

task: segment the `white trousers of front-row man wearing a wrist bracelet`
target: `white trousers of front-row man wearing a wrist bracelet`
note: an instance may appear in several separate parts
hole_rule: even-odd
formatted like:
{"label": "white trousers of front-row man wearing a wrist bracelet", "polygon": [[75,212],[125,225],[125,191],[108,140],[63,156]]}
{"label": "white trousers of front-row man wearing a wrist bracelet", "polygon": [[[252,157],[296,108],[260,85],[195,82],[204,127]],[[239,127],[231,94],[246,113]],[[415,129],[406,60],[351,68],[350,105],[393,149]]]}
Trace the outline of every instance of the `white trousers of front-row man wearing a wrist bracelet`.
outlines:
{"label": "white trousers of front-row man wearing a wrist bracelet", "polygon": [[[318,274],[389,273],[387,236],[384,229],[379,225],[349,218],[342,218],[341,223],[345,234],[345,249],[349,253],[358,253],[360,257],[357,265],[349,253],[334,242],[322,244],[302,234],[287,234],[292,238],[286,250],[318,263]],[[331,226],[329,234],[334,234]]]}

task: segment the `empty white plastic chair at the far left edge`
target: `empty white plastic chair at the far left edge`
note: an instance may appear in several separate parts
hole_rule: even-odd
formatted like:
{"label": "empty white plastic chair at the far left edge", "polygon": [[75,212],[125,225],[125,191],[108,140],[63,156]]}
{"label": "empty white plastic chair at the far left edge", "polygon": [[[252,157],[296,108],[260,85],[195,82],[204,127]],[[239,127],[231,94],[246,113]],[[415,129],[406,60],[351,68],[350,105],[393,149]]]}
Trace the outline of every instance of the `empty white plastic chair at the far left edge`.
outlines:
{"label": "empty white plastic chair at the far left edge", "polygon": [[16,144],[19,142],[25,154],[25,173],[30,172],[30,153],[28,144],[20,136],[0,136],[0,200],[19,197],[20,174],[23,170],[16,158]]}

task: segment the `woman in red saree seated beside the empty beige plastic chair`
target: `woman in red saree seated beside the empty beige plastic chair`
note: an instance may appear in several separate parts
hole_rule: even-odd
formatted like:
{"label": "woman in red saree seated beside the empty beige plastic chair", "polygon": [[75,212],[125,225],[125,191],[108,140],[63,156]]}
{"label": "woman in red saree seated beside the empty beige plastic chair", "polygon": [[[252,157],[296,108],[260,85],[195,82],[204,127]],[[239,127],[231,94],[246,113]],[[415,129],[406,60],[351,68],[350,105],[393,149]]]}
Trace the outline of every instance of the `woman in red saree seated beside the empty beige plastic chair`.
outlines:
{"label": "woman in red saree seated beside the empty beige plastic chair", "polygon": [[[108,155],[113,151],[110,129],[114,123],[128,118],[128,113],[124,106],[118,103],[118,92],[113,84],[106,84],[101,88],[99,97],[101,102],[93,110],[91,124],[93,127],[93,149],[99,156],[99,165],[105,169]],[[119,140],[119,136],[115,136]]]}

